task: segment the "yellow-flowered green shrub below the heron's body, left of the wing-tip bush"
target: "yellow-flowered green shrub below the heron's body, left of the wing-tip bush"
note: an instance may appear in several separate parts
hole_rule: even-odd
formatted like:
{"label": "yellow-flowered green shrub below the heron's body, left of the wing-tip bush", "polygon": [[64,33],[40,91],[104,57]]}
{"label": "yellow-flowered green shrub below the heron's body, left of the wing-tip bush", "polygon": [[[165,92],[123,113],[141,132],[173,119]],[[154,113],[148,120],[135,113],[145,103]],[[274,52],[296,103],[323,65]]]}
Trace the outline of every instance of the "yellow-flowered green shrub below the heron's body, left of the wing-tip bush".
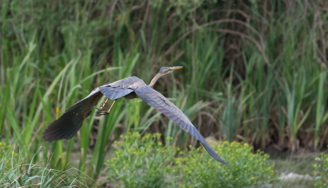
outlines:
{"label": "yellow-flowered green shrub below the heron's body, left of the wing-tip bush", "polygon": [[105,163],[108,177],[117,187],[167,187],[166,174],[171,170],[171,158],[176,153],[163,146],[160,134],[128,133],[122,142],[115,141],[115,156]]}

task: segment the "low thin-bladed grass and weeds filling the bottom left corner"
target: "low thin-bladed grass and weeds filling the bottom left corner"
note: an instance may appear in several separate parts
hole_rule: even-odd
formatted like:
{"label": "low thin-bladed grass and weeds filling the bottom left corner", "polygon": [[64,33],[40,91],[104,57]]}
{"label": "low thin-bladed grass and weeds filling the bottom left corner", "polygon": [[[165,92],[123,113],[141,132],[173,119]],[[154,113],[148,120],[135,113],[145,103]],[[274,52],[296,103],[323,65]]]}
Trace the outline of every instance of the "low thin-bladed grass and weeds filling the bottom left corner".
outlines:
{"label": "low thin-bladed grass and weeds filling the bottom left corner", "polygon": [[54,170],[44,160],[33,163],[41,147],[29,161],[22,153],[24,150],[19,149],[16,153],[12,146],[0,143],[0,187],[87,187],[85,179],[90,178],[81,178],[78,173],[82,172],[76,168]]}

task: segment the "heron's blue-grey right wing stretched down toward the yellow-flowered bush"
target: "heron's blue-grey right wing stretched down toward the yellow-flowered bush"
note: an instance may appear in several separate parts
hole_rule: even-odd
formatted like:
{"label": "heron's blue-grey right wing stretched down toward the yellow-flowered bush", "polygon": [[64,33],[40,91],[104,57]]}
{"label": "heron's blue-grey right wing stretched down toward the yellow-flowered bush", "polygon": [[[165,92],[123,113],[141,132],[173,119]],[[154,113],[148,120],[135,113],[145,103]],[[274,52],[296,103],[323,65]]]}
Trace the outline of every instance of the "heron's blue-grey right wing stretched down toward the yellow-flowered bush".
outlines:
{"label": "heron's blue-grey right wing stretched down toward the yellow-flowered bush", "polygon": [[[171,101],[165,98],[158,91],[149,87],[148,85],[142,86],[134,90],[136,95],[144,102],[162,112],[164,115],[173,120],[179,127],[188,132],[195,139],[199,140],[203,144],[207,152],[217,161],[227,164],[220,156],[214,151],[214,149],[207,143],[204,137],[199,133],[195,126],[190,122],[186,115],[176,107]],[[228,164],[227,164],[228,165]]]}

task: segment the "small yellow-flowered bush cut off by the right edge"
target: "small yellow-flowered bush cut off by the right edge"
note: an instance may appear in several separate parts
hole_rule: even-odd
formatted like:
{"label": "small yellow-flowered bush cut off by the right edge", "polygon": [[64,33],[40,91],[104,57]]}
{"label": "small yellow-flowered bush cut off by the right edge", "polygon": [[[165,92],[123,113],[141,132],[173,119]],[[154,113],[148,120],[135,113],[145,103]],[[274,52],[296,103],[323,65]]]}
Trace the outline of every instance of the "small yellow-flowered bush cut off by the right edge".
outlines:
{"label": "small yellow-flowered bush cut off by the right edge", "polygon": [[315,160],[317,162],[313,164],[313,167],[318,173],[318,176],[314,185],[315,187],[328,188],[328,155],[321,153]]}

